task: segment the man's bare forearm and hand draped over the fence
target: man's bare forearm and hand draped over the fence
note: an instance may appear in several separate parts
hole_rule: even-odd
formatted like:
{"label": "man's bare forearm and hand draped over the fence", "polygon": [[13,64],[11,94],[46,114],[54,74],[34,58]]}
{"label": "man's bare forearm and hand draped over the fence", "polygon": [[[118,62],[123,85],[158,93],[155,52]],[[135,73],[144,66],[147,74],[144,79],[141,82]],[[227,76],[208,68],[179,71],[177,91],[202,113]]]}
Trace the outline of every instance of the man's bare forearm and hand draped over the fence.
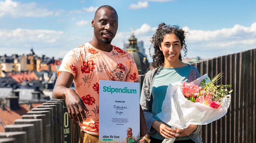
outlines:
{"label": "man's bare forearm and hand draped over the fence", "polygon": [[83,123],[83,119],[86,120],[84,110],[89,110],[85,107],[79,95],[73,89],[69,88],[73,79],[74,76],[71,73],[61,72],[53,89],[53,97],[65,99],[70,118],[77,121],[77,123],[78,121]]}

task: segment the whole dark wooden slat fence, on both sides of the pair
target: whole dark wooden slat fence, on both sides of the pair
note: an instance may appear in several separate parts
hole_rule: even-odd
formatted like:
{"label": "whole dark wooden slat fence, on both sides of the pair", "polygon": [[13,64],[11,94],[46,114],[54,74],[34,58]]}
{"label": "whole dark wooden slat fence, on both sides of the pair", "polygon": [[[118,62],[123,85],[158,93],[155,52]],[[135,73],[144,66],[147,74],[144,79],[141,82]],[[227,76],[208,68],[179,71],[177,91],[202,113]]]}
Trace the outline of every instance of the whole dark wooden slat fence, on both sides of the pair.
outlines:
{"label": "whole dark wooden slat fence, on both sides of the pair", "polygon": [[[212,78],[223,71],[222,84],[233,85],[228,113],[211,124],[203,125],[205,143],[253,143],[255,139],[256,49],[193,63],[201,75]],[[144,75],[140,75],[142,83]],[[18,125],[19,124],[19,125]],[[70,120],[63,99],[51,99],[5,126],[0,141],[10,143],[77,143],[80,128]],[[12,132],[15,131],[15,132]],[[19,131],[19,132],[17,132]],[[15,141],[16,140],[16,141]],[[9,143],[9,142],[8,142]]]}

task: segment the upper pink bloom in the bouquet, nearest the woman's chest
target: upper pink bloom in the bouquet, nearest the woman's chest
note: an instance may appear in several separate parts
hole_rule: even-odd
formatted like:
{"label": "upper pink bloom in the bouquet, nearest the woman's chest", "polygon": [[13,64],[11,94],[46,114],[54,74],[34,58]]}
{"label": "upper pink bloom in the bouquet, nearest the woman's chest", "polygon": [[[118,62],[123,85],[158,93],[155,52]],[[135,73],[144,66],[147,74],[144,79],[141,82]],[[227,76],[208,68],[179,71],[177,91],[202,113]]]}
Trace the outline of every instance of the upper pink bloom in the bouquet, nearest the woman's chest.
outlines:
{"label": "upper pink bloom in the bouquet, nearest the woman's chest", "polygon": [[202,88],[201,86],[197,86],[195,84],[186,83],[186,82],[184,82],[181,86],[182,93],[186,97],[190,97],[191,95],[193,97],[197,97],[197,95],[199,94],[199,90],[201,90],[201,88]]}

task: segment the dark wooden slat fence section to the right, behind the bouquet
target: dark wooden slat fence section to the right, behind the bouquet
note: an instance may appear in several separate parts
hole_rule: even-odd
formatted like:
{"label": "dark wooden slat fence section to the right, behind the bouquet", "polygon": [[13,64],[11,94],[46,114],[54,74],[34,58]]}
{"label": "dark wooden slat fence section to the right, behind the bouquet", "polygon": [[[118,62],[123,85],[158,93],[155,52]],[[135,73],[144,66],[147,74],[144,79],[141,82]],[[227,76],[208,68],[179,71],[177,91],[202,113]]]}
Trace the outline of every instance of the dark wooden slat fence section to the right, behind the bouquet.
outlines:
{"label": "dark wooden slat fence section to the right, behind the bouquet", "polygon": [[256,49],[196,62],[201,75],[213,77],[223,71],[222,84],[233,85],[228,113],[211,124],[203,125],[205,143],[255,143]]}

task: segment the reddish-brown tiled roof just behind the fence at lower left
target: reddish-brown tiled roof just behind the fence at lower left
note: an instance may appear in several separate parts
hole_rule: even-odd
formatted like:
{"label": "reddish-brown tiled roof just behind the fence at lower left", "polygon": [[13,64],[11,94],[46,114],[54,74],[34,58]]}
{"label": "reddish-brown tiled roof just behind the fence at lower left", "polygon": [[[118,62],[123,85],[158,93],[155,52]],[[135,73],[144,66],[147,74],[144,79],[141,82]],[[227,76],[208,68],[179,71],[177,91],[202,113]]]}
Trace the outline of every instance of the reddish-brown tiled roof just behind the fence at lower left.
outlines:
{"label": "reddish-brown tiled roof just behind the fence at lower left", "polygon": [[[36,108],[43,103],[32,103],[32,107]],[[4,132],[5,125],[12,125],[16,119],[21,119],[22,115],[26,115],[28,111],[31,111],[28,104],[20,104],[19,110],[10,110],[8,106],[4,106],[4,110],[0,108],[0,132]],[[4,125],[3,125],[4,124]]]}

